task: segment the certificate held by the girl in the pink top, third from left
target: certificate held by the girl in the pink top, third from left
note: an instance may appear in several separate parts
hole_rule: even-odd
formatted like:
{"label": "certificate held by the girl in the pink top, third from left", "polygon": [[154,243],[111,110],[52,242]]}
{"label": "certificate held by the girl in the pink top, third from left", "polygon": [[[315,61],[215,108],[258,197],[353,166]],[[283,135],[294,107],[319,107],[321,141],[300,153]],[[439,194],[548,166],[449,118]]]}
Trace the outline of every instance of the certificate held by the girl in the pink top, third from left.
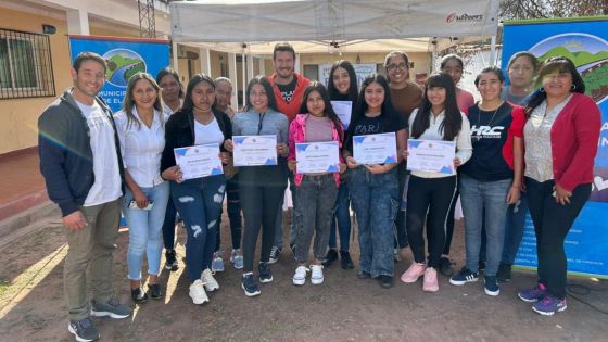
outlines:
{"label": "certificate held by the girl in the pink top, third from left", "polygon": [[338,141],[295,144],[295,169],[299,174],[340,172]]}

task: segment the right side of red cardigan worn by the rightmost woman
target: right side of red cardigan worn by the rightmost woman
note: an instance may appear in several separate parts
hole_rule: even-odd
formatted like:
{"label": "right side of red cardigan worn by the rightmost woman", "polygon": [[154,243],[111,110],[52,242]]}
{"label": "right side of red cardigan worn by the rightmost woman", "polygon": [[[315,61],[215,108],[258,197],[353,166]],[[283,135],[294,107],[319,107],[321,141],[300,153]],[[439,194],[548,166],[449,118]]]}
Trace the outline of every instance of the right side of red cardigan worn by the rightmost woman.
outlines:
{"label": "right side of red cardigan worn by the rightmost woman", "polygon": [[594,159],[601,114],[592,98],[573,93],[550,130],[553,175],[556,185],[572,192],[593,181]]}

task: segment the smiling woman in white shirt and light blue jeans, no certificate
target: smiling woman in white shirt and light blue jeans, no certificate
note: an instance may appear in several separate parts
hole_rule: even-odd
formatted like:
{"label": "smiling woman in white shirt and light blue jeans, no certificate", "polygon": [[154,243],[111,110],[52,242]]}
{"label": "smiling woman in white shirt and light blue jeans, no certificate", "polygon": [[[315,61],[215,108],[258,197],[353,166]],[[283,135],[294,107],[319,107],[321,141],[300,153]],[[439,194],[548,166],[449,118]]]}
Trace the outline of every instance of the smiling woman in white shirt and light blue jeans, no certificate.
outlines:
{"label": "smiling woman in white shirt and light blue jeans, no certificate", "polygon": [[152,76],[138,73],[129,79],[123,110],[114,117],[127,183],[123,214],[129,226],[128,278],[132,301],[142,303],[148,300],[141,289],[143,254],[148,258],[149,294],[152,299],[163,297],[159,284],[161,229],[169,198],[169,185],[160,173],[167,115],[163,112],[161,88]]}

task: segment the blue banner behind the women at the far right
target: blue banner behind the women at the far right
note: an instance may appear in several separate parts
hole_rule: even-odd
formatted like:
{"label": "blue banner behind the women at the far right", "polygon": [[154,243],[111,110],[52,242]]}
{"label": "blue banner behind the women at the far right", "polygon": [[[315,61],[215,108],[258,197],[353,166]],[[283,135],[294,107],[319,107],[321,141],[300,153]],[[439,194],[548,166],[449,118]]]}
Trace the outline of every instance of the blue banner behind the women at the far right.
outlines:
{"label": "blue banner behind the women at the far right", "polygon": [[[597,20],[505,23],[503,67],[518,51],[530,51],[542,62],[566,56],[577,65],[585,93],[601,111],[603,126],[595,159],[590,201],[566,237],[568,270],[608,278],[608,17]],[[506,75],[506,71],[505,71]],[[527,219],[516,265],[536,267],[536,239]]]}

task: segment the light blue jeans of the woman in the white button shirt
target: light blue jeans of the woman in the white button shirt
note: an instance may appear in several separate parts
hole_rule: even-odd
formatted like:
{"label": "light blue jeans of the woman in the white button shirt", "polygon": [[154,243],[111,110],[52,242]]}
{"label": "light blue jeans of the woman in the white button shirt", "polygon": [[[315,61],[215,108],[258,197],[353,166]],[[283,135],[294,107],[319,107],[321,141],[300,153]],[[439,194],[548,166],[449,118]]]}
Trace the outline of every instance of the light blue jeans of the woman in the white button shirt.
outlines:
{"label": "light blue jeans of the woman in the white button shirt", "polygon": [[123,214],[129,226],[129,250],[127,251],[127,269],[130,280],[141,279],[143,253],[148,258],[148,274],[157,276],[161,268],[163,238],[161,230],[165,218],[165,208],[169,199],[169,183],[164,181],[150,188],[140,188],[154,205],[151,210],[129,208],[134,200],[132,192],[126,188],[123,201]]}

